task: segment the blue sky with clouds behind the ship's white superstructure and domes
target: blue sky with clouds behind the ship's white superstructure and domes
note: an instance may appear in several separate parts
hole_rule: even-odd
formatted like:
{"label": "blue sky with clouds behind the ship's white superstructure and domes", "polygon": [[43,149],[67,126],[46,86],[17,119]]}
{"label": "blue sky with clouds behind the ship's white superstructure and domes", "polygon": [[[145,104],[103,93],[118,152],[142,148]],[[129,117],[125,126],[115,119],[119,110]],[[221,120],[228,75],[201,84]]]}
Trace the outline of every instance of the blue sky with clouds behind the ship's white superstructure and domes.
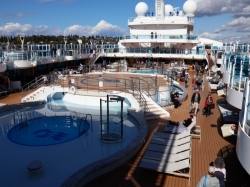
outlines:
{"label": "blue sky with clouds behind the ship's white superstructure and domes", "polygon": [[[183,10],[186,0],[165,0]],[[198,10],[194,35],[223,43],[250,42],[250,0],[194,0]],[[155,12],[155,0],[3,0],[0,36],[129,34],[128,19],[145,2]]]}

